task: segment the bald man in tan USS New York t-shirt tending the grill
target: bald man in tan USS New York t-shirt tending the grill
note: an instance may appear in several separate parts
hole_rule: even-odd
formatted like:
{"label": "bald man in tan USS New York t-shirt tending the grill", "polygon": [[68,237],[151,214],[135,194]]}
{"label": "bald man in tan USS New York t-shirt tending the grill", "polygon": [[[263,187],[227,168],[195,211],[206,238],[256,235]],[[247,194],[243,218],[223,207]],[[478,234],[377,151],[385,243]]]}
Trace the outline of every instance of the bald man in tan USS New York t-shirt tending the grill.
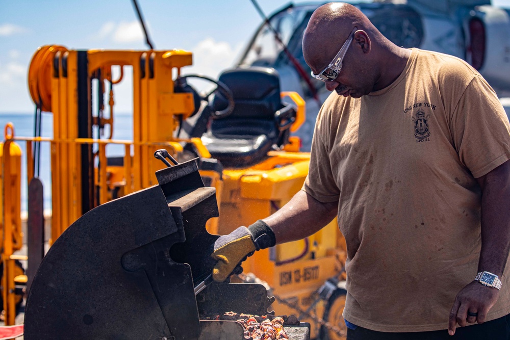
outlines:
{"label": "bald man in tan USS New York t-shirt tending the grill", "polygon": [[277,213],[218,239],[214,278],[338,215],[347,339],[510,339],[510,127],[494,91],[460,59],[394,45],[348,4],[314,12],[303,53],[335,91],[309,175]]}

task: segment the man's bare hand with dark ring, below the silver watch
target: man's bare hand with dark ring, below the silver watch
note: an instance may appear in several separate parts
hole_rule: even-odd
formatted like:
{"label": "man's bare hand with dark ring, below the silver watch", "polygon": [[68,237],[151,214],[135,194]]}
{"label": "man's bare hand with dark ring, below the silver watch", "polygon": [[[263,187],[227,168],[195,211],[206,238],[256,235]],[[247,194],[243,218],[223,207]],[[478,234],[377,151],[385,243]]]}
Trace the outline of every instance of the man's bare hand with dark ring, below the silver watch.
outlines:
{"label": "man's bare hand with dark ring, below the silver watch", "polygon": [[[455,333],[455,324],[464,327],[467,323],[481,324],[485,321],[489,309],[494,306],[499,297],[499,291],[494,287],[488,287],[478,281],[473,281],[465,286],[455,297],[450,311],[448,333]],[[468,315],[468,312],[470,315]],[[472,316],[476,313],[476,316]]]}

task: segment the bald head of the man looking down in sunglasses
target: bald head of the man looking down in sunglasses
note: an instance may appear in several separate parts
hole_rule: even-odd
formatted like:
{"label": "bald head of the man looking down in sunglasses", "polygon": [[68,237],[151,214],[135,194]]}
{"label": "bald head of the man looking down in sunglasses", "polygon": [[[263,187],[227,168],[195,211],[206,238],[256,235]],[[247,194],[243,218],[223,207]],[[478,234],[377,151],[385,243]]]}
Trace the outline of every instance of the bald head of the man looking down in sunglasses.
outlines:
{"label": "bald head of the man looking down in sunglasses", "polygon": [[333,61],[354,28],[344,57],[348,66],[342,65],[335,81],[326,82],[326,88],[359,97],[391,83],[409,54],[386,39],[358,8],[329,3],[315,10],[303,35],[304,60],[315,74]]}

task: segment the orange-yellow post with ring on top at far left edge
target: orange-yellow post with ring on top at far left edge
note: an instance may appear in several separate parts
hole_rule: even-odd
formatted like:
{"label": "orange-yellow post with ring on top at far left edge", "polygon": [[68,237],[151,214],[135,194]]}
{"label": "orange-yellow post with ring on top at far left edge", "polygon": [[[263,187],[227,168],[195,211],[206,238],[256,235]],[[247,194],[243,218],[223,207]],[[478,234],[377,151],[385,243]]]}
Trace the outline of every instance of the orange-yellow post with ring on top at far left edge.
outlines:
{"label": "orange-yellow post with ring on top at far left edge", "polygon": [[11,257],[21,247],[21,148],[14,143],[14,126],[5,126],[5,142],[0,143],[2,159],[2,295],[4,298],[5,324],[14,325],[15,259]]}

